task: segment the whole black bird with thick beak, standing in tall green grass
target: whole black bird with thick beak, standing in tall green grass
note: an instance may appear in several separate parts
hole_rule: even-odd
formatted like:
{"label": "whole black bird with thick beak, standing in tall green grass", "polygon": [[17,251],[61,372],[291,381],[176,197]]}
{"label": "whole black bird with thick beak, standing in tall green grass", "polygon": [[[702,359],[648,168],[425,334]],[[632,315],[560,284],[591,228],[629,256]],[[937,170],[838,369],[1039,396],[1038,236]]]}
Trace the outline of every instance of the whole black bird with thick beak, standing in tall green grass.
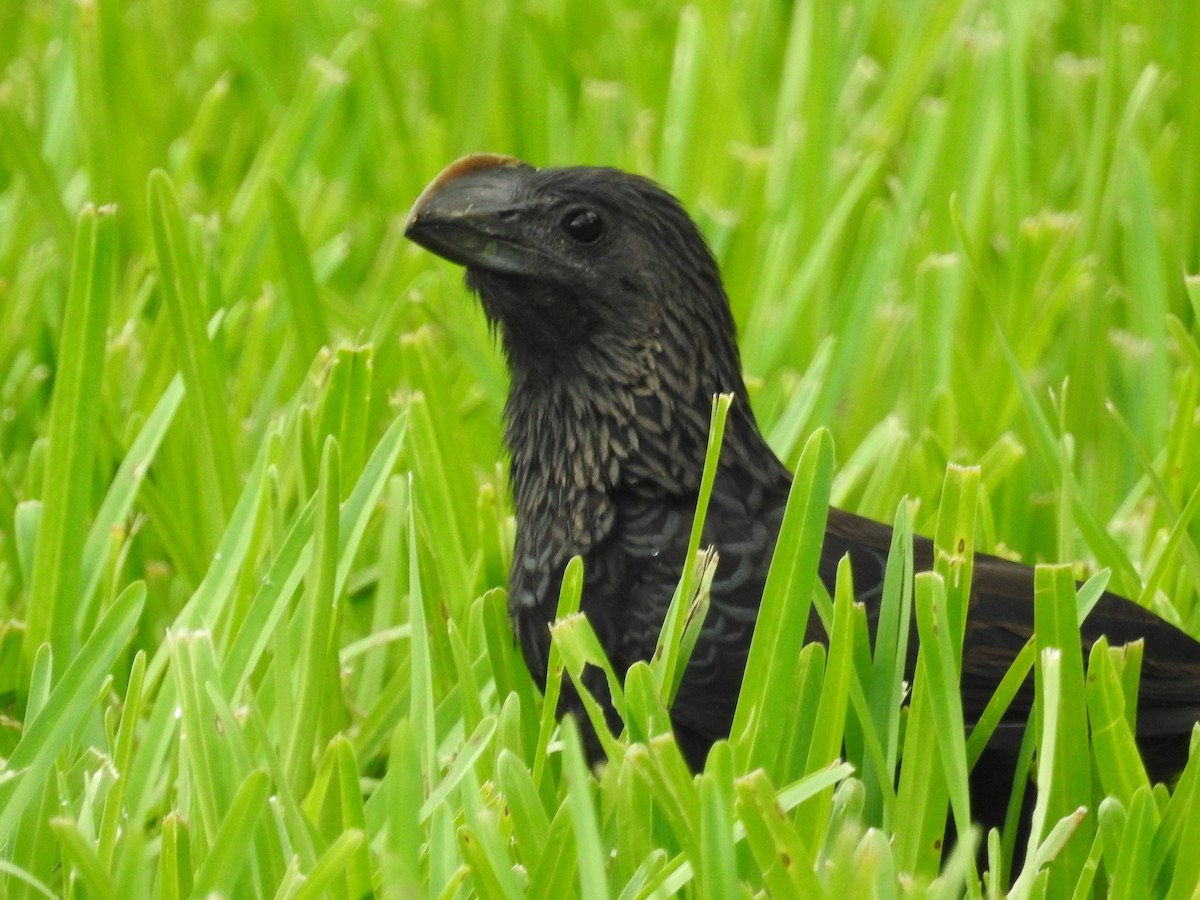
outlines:
{"label": "whole black bird with thick beak, standing in tall green grass", "polygon": [[[541,684],[572,556],[584,564],[582,611],[616,672],[650,658],[685,562],[712,398],[734,396],[703,530],[720,563],[671,707],[684,756],[703,767],[730,732],[792,478],[755,422],[728,299],[703,236],[648,179],[611,168],[536,169],[488,154],[443,170],[414,204],[406,234],[466,266],[508,361],[517,523],[509,610]],[[890,539],[884,524],[829,510],[820,577],[832,592],[838,562],[850,557],[872,637]],[[917,538],[913,556],[917,571],[932,568],[931,541]],[[978,554],[961,664],[968,726],[1032,632],[1033,569]],[[1186,763],[1200,720],[1200,643],[1115,594],[1104,594],[1081,626],[1085,653],[1102,635],[1111,644],[1145,641],[1136,738],[1151,778],[1169,779]],[[815,616],[806,638],[826,640]],[[910,678],[914,659],[912,647]],[[604,677],[587,672],[584,684],[619,731]],[[1024,722],[1032,701],[1027,683],[1007,720]],[[569,694],[559,713],[571,710],[580,707]],[[1015,761],[1007,737],[1014,732],[1019,743],[1020,728],[1001,728],[989,744],[994,780],[997,758]],[[599,754],[594,740],[590,751]],[[1008,799],[1007,788],[980,796],[990,791],[972,787],[973,811],[988,826],[1002,822]]]}

